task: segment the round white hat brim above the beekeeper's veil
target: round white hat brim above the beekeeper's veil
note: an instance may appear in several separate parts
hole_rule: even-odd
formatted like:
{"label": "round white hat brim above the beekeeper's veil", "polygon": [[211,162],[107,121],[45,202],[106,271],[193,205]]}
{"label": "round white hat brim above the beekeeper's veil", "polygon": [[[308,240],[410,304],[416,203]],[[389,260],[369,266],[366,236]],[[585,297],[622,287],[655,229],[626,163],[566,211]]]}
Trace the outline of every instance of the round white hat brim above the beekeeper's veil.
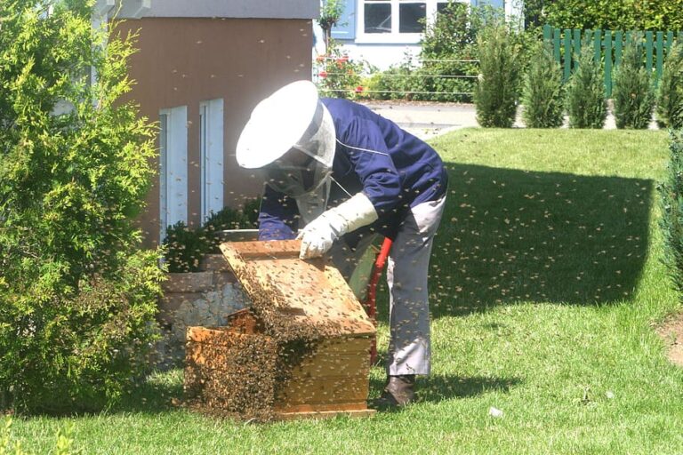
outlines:
{"label": "round white hat brim above the beekeeper's veil", "polygon": [[237,164],[257,169],[285,155],[309,128],[317,104],[310,81],[287,84],[262,100],[237,140]]}

